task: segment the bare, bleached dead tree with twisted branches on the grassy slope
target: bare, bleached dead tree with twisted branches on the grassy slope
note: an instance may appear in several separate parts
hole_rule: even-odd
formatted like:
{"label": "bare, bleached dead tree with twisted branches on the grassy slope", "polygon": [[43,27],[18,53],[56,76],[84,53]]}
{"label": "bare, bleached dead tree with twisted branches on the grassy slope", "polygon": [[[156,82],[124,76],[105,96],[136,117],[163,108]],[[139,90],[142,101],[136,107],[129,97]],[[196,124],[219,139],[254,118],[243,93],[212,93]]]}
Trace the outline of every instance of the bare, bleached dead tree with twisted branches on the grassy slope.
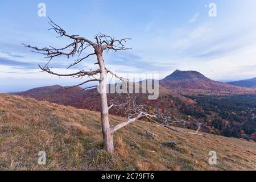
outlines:
{"label": "bare, bleached dead tree with twisted branches on the grassy slope", "polygon": [[[49,24],[51,25],[51,28],[49,28],[49,30],[55,31],[57,34],[59,34],[59,37],[68,38],[69,40],[71,40],[71,43],[62,48],[55,48],[52,46],[45,47],[45,48],[38,48],[38,47],[32,47],[30,45],[26,45],[26,44],[24,44],[24,46],[28,48],[32,48],[33,49],[32,52],[41,53],[45,58],[49,59],[46,65],[44,66],[39,65],[39,68],[42,69],[43,72],[47,72],[51,75],[56,75],[60,77],[82,78],[87,76],[89,78],[89,80],[81,82],[81,84],[68,86],[65,88],[72,88],[72,87],[84,85],[88,82],[98,81],[99,83],[98,85],[90,86],[89,88],[98,87],[98,92],[100,95],[101,129],[102,129],[102,134],[104,139],[104,147],[106,151],[108,151],[110,154],[113,154],[114,152],[113,134],[115,133],[115,131],[121,129],[122,127],[125,127],[126,125],[129,125],[129,123],[131,122],[137,121],[137,119],[140,119],[143,117],[157,118],[158,116],[157,114],[156,115],[148,114],[147,111],[143,110],[142,105],[139,105],[139,106],[133,105],[126,121],[116,126],[110,126],[109,109],[117,105],[114,105],[114,104],[110,106],[108,105],[107,75],[109,73],[112,76],[115,76],[119,78],[119,80],[124,82],[126,82],[127,80],[125,78],[119,77],[117,74],[115,74],[114,72],[106,68],[105,61],[103,59],[103,53],[104,51],[109,51],[109,50],[113,50],[114,52],[117,52],[121,50],[131,49],[131,48],[125,47],[126,40],[130,40],[130,38],[115,39],[115,38],[112,38],[111,36],[99,33],[94,36],[94,41],[92,41],[84,37],[81,37],[79,35],[67,34],[67,32],[63,30],[63,28],[55,24],[51,19],[49,19]],[[89,53],[88,55],[81,56],[82,52],[84,52],[84,50],[88,48],[92,48],[93,52]],[[63,74],[63,73],[55,73],[51,70],[51,68],[48,67],[48,64],[50,63],[50,61],[55,57],[65,56],[69,59],[70,57],[73,57],[76,55],[77,55],[77,59],[73,62],[73,64],[69,65],[68,68],[71,68],[74,65],[81,63],[82,61],[85,61],[91,56],[96,56],[97,63],[95,64],[98,65],[98,69],[94,71],[92,70],[84,71],[84,69],[80,69],[78,72],[75,72],[75,73]],[[177,121],[177,122],[181,122],[181,121]]]}

